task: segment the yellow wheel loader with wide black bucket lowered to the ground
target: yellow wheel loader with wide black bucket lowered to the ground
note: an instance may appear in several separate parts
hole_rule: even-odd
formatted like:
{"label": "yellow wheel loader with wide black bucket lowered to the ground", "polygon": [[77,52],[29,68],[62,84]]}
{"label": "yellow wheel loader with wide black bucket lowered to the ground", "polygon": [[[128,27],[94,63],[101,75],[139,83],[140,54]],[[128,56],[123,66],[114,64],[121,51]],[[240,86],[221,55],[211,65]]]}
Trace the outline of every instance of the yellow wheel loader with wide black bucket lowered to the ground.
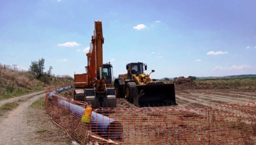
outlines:
{"label": "yellow wheel loader with wide black bucket lowered to the ground", "polygon": [[147,70],[147,64],[129,63],[127,73],[119,74],[114,81],[116,97],[126,99],[138,107],[177,105],[174,83],[153,81]]}

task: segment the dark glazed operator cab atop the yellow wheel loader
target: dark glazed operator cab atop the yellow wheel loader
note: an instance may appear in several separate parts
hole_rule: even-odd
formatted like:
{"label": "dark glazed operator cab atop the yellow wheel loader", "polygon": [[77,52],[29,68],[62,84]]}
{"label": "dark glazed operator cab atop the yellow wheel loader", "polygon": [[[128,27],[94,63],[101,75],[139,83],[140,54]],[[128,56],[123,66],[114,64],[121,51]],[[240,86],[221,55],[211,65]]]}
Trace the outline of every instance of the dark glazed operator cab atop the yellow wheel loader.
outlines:
{"label": "dark glazed operator cab atop the yellow wheel loader", "polygon": [[127,74],[128,74],[128,79],[132,79],[132,75],[131,74],[135,74],[136,76],[138,76],[139,74],[143,74],[144,70],[147,70],[147,64],[143,64],[143,63],[129,63],[126,65],[126,70],[127,70]]}

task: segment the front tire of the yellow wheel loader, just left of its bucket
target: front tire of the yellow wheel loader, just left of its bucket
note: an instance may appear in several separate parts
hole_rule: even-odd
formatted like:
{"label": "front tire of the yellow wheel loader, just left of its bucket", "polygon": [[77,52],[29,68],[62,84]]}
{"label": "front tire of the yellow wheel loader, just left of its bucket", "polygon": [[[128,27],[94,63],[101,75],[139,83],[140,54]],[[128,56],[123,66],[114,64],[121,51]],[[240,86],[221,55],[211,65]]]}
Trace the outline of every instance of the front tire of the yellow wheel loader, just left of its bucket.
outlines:
{"label": "front tire of the yellow wheel loader, just left of its bucket", "polygon": [[135,82],[127,82],[126,98],[129,102],[133,103],[133,98],[138,96],[138,89]]}

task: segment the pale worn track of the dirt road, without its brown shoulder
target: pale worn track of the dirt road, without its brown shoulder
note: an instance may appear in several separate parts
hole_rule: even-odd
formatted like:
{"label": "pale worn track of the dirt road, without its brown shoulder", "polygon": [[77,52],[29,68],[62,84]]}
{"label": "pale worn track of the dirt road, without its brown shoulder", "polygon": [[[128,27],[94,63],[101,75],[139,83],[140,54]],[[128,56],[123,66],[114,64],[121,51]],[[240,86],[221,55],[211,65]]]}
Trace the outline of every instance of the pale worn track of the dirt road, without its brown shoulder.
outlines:
{"label": "pale worn track of the dirt road, without its brown shoulder", "polygon": [[38,135],[34,133],[36,129],[27,124],[26,113],[34,101],[44,96],[45,94],[33,96],[1,118],[0,144],[34,144],[33,138]]}

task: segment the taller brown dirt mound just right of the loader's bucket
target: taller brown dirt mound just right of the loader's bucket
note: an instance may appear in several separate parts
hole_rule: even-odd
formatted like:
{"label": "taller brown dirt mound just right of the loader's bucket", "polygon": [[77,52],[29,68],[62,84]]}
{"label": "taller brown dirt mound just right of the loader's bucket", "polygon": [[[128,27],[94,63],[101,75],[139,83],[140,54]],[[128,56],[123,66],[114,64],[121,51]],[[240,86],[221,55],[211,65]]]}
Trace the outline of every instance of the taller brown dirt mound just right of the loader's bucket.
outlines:
{"label": "taller brown dirt mound just right of the loader's bucket", "polygon": [[195,89],[196,84],[191,78],[185,78],[184,76],[180,76],[174,80],[176,89]]}

